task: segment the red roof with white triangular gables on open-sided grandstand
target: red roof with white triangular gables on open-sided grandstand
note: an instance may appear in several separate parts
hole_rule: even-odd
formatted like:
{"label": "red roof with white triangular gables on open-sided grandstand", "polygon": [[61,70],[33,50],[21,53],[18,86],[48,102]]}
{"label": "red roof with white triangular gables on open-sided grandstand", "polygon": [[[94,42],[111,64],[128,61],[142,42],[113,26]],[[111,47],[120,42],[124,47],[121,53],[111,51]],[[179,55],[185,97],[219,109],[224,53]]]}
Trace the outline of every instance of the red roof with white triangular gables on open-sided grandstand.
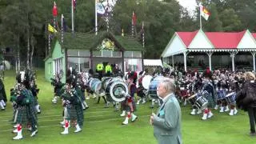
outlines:
{"label": "red roof with white triangular gables on open-sided grandstand", "polygon": [[176,32],[170,39],[162,57],[185,51],[256,51],[256,33],[241,32]]}

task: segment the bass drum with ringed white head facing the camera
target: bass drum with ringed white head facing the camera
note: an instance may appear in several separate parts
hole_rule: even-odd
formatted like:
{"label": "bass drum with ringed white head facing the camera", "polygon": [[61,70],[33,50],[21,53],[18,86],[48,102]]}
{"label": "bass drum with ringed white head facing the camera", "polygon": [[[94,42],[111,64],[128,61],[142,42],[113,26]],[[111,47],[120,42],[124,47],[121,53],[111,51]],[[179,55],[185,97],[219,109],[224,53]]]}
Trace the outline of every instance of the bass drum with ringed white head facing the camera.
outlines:
{"label": "bass drum with ringed white head facing the camera", "polygon": [[128,94],[128,87],[125,82],[111,81],[107,84],[105,95],[109,102],[122,102],[126,99]]}

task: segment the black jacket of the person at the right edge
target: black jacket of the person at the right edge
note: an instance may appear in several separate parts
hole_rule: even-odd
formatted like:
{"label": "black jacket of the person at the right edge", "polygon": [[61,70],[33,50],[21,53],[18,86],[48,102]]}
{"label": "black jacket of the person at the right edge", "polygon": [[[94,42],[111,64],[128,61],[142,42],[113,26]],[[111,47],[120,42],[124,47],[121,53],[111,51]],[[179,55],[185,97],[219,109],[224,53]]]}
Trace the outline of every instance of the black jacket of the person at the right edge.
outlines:
{"label": "black jacket of the person at the right edge", "polygon": [[247,110],[248,107],[256,107],[256,82],[246,81],[237,94],[236,102],[238,108]]}

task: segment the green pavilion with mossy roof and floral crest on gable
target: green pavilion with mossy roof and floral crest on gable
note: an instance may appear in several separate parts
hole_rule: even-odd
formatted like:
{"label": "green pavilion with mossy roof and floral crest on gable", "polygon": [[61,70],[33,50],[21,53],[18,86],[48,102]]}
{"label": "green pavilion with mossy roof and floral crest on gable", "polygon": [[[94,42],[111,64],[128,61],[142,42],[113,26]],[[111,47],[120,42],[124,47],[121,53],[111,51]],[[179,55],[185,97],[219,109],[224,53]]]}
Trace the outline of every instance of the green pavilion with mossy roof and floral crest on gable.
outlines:
{"label": "green pavilion with mossy roof and floral crest on gable", "polygon": [[66,70],[78,66],[78,71],[96,70],[100,62],[118,64],[119,68],[141,71],[143,47],[136,38],[117,36],[110,32],[95,34],[65,33],[63,43],[56,36],[51,42],[51,50],[45,58],[46,80],[54,78],[61,71],[62,82],[66,81]]}

